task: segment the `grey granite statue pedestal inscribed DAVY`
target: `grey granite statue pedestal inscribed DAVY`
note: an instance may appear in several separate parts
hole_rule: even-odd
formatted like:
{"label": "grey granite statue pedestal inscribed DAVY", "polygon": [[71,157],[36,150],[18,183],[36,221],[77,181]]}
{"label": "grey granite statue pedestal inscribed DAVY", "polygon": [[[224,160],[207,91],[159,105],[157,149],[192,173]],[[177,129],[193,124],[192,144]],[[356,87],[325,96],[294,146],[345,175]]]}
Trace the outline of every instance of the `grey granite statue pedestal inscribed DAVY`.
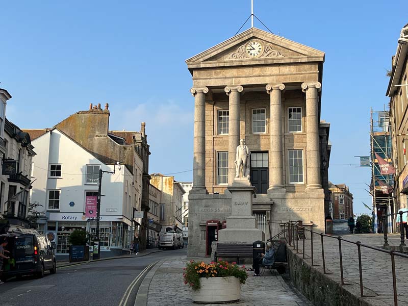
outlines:
{"label": "grey granite statue pedestal inscribed DAVY", "polygon": [[252,187],[246,177],[236,177],[228,187],[232,195],[231,216],[226,218],[226,228],[218,231],[219,242],[247,242],[264,240],[264,233],[258,230],[257,220],[252,216]]}

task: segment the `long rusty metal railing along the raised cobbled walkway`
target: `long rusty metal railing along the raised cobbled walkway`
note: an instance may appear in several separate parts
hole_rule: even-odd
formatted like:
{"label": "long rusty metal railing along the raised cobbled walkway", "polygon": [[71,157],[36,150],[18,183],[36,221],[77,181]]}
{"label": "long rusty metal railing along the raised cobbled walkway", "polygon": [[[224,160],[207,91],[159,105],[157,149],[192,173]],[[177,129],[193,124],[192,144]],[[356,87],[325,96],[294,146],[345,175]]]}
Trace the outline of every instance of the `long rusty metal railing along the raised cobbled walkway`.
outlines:
{"label": "long rusty metal railing along the raised cobbled walkway", "polygon": [[[398,300],[397,300],[397,281],[396,281],[396,272],[395,272],[395,256],[402,257],[408,259],[407,254],[399,253],[396,251],[390,251],[382,248],[378,248],[375,246],[367,245],[364,243],[361,243],[360,241],[354,242],[350,240],[346,240],[342,238],[341,236],[335,237],[335,236],[330,236],[326,235],[323,233],[318,233],[312,230],[309,230],[308,228],[305,228],[304,226],[300,226],[296,222],[289,221],[287,222],[286,226],[288,227],[288,236],[289,236],[289,246],[293,247],[293,250],[296,250],[296,253],[299,253],[298,249],[298,232],[300,231],[307,231],[310,232],[310,254],[311,254],[311,261],[312,261],[312,266],[315,266],[314,264],[314,250],[313,250],[313,236],[317,235],[320,237],[320,243],[321,243],[321,255],[322,255],[322,265],[323,265],[323,273],[328,274],[326,271],[326,265],[325,265],[325,258],[324,258],[324,237],[330,238],[330,239],[337,239],[339,243],[339,261],[340,261],[340,277],[341,277],[341,285],[346,285],[344,283],[344,269],[343,269],[343,256],[342,256],[342,242],[346,243],[351,243],[357,246],[357,251],[358,251],[358,256],[359,256],[359,279],[360,279],[360,296],[364,297],[364,289],[363,289],[363,269],[362,269],[362,260],[361,260],[361,251],[362,247],[375,250],[378,252],[382,253],[387,253],[391,256],[391,268],[392,268],[392,281],[393,281],[393,291],[394,291],[394,306],[398,306]],[[304,232],[305,233],[305,232]],[[295,243],[296,240],[296,243]],[[305,256],[305,246],[304,246],[304,240],[305,240],[305,235],[303,235],[303,254],[302,258],[304,259]]]}

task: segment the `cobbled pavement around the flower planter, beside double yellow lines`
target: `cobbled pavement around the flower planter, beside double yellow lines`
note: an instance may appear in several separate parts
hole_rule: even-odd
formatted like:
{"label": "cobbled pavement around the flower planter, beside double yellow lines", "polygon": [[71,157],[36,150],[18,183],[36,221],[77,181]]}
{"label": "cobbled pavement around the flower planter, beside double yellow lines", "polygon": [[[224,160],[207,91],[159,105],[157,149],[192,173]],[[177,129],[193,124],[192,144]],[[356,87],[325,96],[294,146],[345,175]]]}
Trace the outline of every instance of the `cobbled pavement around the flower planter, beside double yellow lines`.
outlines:
{"label": "cobbled pavement around the flower planter, beside double yellow lines", "polygon": [[[206,259],[205,261],[209,261]],[[191,306],[191,289],[183,283],[183,267],[186,257],[168,260],[156,271],[149,287],[147,306]],[[250,273],[250,274],[249,274]],[[276,272],[275,272],[276,273]],[[248,272],[252,275],[253,272]],[[207,304],[211,306],[225,304]],[[261,277],[249,276],[241,285],[241,300],[227,305],[239,306],[305,306],[310,303],[296,295],[281,275],[269,271]]]}

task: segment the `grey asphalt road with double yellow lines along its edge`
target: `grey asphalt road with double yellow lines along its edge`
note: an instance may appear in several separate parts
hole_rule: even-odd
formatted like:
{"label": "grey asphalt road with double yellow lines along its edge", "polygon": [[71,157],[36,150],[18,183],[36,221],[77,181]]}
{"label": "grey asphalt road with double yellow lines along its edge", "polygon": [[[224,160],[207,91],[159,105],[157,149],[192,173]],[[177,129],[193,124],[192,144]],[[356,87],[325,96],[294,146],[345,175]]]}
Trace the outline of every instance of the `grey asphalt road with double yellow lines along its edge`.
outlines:
{"label": "grey asphalt road with double yellow lines along its edge", "polygon": [[46,272],[44,278],[39,279],[33,276],[25,276],[21,280],[11,278],[0,285],[0,304],[133,306],[137,290],[147,274],[140,275],[141,272],[151,263],[186,253],[186,248],[166,250],[139,258],[61,268],[57,263],[57,274]]}

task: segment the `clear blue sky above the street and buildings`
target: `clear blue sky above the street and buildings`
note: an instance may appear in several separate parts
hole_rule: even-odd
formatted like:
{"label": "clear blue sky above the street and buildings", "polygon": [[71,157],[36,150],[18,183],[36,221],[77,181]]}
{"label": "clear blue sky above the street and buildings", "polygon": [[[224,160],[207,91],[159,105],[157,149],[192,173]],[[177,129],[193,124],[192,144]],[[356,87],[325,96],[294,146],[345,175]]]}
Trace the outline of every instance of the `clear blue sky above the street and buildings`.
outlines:
{"label": "clear blue sky above the street and buildings", "polygon": [[[406,12],[403,0],[254,0],[273,33],[326,53],[329,176],[349,185],[357,213],[369,212],[361,202],[371,203],[370,170],[355,168],[354,156],[369,155],[370,107],[388,105],[386,69]],[[39,129],[89,103],[109,103],[112,129],[138,131],[146,121],[150,172],[187,171],[175,177],[190,181],[194,100],[185,60],[234,36],[249,15],[250,0],[3,2],[0,87],[13,96],[7,117]]]}

